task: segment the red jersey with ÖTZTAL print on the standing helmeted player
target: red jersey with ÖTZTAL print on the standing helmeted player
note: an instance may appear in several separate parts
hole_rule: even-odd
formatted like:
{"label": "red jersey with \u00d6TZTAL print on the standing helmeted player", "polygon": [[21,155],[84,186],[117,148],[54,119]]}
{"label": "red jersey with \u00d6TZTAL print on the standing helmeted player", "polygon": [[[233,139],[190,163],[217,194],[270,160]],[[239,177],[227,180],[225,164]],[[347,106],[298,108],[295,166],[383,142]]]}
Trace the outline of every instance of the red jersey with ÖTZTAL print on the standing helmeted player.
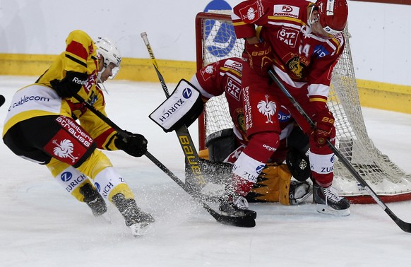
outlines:
{"label": "red jersey with \u00d6TZTAL print on the standing helmeted player", "polygon": [[330,39],[314,35],[307,25],[311,6],[306,0],[243,1],[233,8],[232,21],[237,38],[259,35],[270,43],[275,72],[287,88],[308,90],[310,101],[326,102],[345,40],[342,33]]}

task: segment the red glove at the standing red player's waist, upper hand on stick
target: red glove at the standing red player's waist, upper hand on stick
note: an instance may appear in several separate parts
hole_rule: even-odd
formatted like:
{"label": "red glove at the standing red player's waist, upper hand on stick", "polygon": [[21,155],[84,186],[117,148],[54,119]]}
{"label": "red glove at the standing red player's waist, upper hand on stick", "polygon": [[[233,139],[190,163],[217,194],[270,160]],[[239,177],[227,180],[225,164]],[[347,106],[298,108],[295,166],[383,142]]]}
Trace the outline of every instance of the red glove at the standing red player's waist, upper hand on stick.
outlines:
{"label": "red glove at the standing red player's waist, upper hand on stick", "polygon": [[267,42],[259,42],[255,45],[246,42],[242,57],[243,61],[248,61],[250,68],[261,76],[267,75],[274,61],[273,51]]}

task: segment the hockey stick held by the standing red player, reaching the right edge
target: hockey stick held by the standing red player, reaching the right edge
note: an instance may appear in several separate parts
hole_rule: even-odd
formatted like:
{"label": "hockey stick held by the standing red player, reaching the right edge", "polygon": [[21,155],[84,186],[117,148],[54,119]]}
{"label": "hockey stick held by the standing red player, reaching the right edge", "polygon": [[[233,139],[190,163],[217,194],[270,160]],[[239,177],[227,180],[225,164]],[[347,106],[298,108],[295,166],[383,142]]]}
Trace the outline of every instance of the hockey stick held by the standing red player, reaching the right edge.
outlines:
{"label": "hockey stick held by the standing red player, reaching the right edge", "polygon": [[[306,121],[310,124],[312,129],[316,128],[316,124],[314,123],[314,121],[312,121],[312,119],[308,116],[308,114],[306,114],[306,112],[304,111],[304,109],[301,107],[301,105],[299,105],[299,103],[297,102],[297,100],[295,100],[295,98],[290,94],[290,92],[287,90],[287,88],[285,88],[285,86],[282,84],[282,82],[278,79],[278,77],[275,75],[275,73],[273,72],[273,70],[269,70],[268,71],[268,75],[270,76],[270,78],[273,79],[273,81],[278,85],[278,87],[282,90],[282,93],[285,94],[285,96],[292,102],[292,105],[294,105],[295,108],[297,108],[298,112],[300,114],[302,114],[302,116],[304,117],[304,119],[306,119]],[[347,158],[344,157],[344,155],[342,155],[342,153],[340,153],[340,151],[335,148],[335,146],[329,141],[327,140],[327,145],[328,147],[330,147],[330,149],[333,151],[333,153],[337,156],[337,158],[342,162],[342,164],[347,168],[347,170],[350,171],[350,173],[352,174],[352,176],[355,177],[355,179],[357,179],[357,181],[359,182],[359,184],[362,185],[362,187],[364,187],[364,189],[368,192],[368,194],[374,198],[374,201],[376,201],[376,203],[379,204],[379,206],[381,206],[381,208],[383,208],[383,210],[388,214],[388,216],[391,217],[391,219],[393,219],[393,221],[404,231],[404,232],[411,232],[411,223],[406,223],[403,220],[400,220],[400,218],[397,217],[397,215],[395,215],[387,206],[385,203],[383,203],[383,201],[381,200],[381,198],[379,198],[379,196],[374,192],[373,189],[371,189],[371,187],[369,187],[369,185],[367,184],[367,182],[365,182],[364,179],[362,179],[362,177],[358,174],[357,170],[355,170],[355,167],[353,167],[351,165],[351,163],[347,160]]]}

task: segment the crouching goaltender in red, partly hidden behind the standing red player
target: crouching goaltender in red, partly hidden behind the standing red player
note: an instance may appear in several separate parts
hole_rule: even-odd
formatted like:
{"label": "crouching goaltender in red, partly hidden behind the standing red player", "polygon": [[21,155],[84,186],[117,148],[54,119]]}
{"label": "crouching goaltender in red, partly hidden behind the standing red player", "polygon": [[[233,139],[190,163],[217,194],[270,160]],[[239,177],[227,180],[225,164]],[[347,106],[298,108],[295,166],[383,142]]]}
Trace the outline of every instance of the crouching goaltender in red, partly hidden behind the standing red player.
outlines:
{"label": "crouching goaltender in red, partly hidden behind the standing red player", "polygon": [[[204,102],[211,97],[225,95],[234,123],[232,130],[224,129],[208,136],[206,146],[211,162],[234,163],[248,143],[242,105],[242,65],[242,59],[239,58],[222,59],[198,70],[190,81],[200,91]],[[292,205],[304,201],[311,194],[311,188],[305,182],[309,177],[308,163],[304,166],[305,170],[300,168],[308,149],[308,138],[295,126],[290,112],[283,106],[279,109],[280,145],[259,175],[258,184],[246,196],[248,201],[280,201],[282,204]],[[290,147],[292,150],[289,150]],[[289,152],[293,155],[287,158]],[[286,158],[288,167],[282,165]],[[292,159],[300,161],[290,162]],[[292,174],[299,182],[291,182]]]}

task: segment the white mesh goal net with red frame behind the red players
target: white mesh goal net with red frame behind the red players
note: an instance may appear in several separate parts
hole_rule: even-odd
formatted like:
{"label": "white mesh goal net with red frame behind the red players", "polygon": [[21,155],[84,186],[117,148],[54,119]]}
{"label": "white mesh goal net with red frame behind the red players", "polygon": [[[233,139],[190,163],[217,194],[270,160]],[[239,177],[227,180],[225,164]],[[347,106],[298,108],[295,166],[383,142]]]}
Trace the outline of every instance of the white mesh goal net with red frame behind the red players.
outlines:
{"label": "white mesh goal net with red frame behind the red players", "polygon": [[[346,45],[333,71],[328,107],[335,117],[337,138],[335,147],[355,167],[358,174],[383,201],[411,199],[411,175],[395,165],[374,146],[362,117],[355,72],[350,50],[350,34],[345,30]],[[227,13],[198,13],[196,16],[197,69],[227,57],[241,57],[243,40],[237,40],[230,15]],[[205,149],[205,138],[211,133],[232,128],[233,123],[222,95],[205,105],[198,123],[199,148]],[[373,203],[374,200],[357,179],[338,159],[334,165],[333,186],[352,203]]]}

